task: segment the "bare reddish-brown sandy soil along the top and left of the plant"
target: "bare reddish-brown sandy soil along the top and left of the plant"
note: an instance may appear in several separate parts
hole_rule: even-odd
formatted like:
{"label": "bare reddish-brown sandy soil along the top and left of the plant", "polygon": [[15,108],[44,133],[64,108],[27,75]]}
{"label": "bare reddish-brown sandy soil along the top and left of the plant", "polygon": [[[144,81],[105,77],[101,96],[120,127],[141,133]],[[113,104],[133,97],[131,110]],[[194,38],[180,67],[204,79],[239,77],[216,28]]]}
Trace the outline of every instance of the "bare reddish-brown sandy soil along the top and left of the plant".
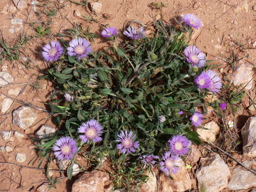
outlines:
{"label": "bare reddish-brown sandy soil along the top and left of the plant", "polygon": [[[19,61],[3,61],[0,67],[7,66],[7,71],[14,77],[14,83],[28,83],[23,93],[17,97],[18,100],[30,102],[42,108],[46,108],[44,102],[49,99],[52,85],[50,82],[38,80],[38,76],[42,75],[42,72],[49,65],[42,60],[39,51],[42,45],[48,43],[50,39],[55,39],[55,34],[62,33],[65,29],[73,27],[75,23],[79,23],[79,25],[84,27],[90,26],[92,32],[99,34],[101,24],[115,26],[119,31],[122,31],[124,22],[128,20],[140,20],[149,27],[151,22],[157,17],[162,17],[164,21],[170,22],[171,18],[175,15],[194,13],[202,19],[204,27],[201,31],[198,31],[198,35],[191,43],[195,43],[196,46],[203,50],[207,54],[207,59],[215,60],[213,64],[218,65],[223,78],[226,76],[231,77],[231,73],[229,73],[230,68],[226,65],[223,58],[220,57],[220,54],[229,55],[229,51],[234,50],[236,53],[239,52],[241,57],[249,54],[249,57],[246,58],[247,62],[254,64],[256,61],[256,52],[254,49],[251,49],[256,41],[254,30],[256,28],[256,11],[252,9],[252,6],[256,5],[256,2],[253,0],[154,1],[155,3],[164,3],[165,7],[163,7],[162,10],[149,7],[149,4],[153,2],[151,0],[100,0],[99,2],[102,3],[102,12],[98,15],[93,15],[93,18],[99,22],[88,22],[81,19],[82,16],[79,16],[79,14],[90,15],[91,12],[86,11],[85,8],[80,5],[68,1],[38,0],[36,5],[33,5],[31,0],[25,2],[27,6],[24,9],[17,10],[14,7],[15,9],[7,10],[6,7],[13,7],[12,1],[0,1],[0,12],[1,10],[2,12],[6,12],[0,13],[0,30],[4,40],[12,45],[17,41],[17,36],[23,32],[26,33],[27,36],[35,35],[36,32],[34,28],[42,25],[43,22],[51,22],[49,26],[52,27],[52,35],[31,39],[28,44],[21,49],[22,53]],[[44,10],[51,8],[57,10],[57,15],[51,18],[46,17],[43,13]],[[105,18],[106,13],[109,15],[107,19]],[[105,15],[105,17],[103,17],[102,14]],[[77,17],[77,15],[80,18]],[[23,28],[18,30],[20,26],[16,24],[13,25],[11,23],[12,18],[22,19]],[[10,33],[10,28],[14,29],[14,34]],[[102,49],[105,43],[102,42],[101,38],[95,38],[92,45],[93,50],[97,51]],[[22,57],[25,56],[32,60],[29,62],[30,68],[18,68],[18,64],[25,63],[22,59]],[[24,86],[25,85],[10,85],[2,88],[0,90],[2,94],[1,100],[4,98],[3,95],[7,95],[7,92],[13,89],[13,87],[23,88]],[[253,90],[254,89],[252,89],[251,92],[253,92]],[[18,106],[21,105],[16,100],[10,111],[16,109]],[[243,110],[239,114],[239,116],[244,116],[243,118],[241,117],[241,125],[252,115],[246,111],[248,106],[248,100],[245,100],[244,103],[242,103]],[[7,141],[0,140],[0,146],[11,146],[14,151],[11,153],[0,152],[0,162],[17,163],[15,161],[15,155],[17,153],[24,153],[26,154],[27,160],[23,163],[19,163],[20,165],[34,167],[38,165],[40,158],[36,155],[33,149],[34,143],[29,137],[34,135],[40,125],[53,124],[51,119],[47,118],[47,113],[37,110],[37,114],[38,118],[36,123],[26,129],[26,131],[12,124],[11,114],[1,114],[0,130],[11,130],[12,136]],[[18,140],[14,138],[13,131],[26,134],[26,137]],[[52,168],[57,167],[53,165]],[[62,175],[54,173],[54,176],[61,177]],[[44,180],[46,180],[46,178],[43,171],[30,170],[12,165],[0,165],[0,191],[35,191]],[[70,188],[67,187],[70,186],[70,183],[71,181],[63,179],[57,185],[57,188],[52,188],[51,191],[70,191]]]}

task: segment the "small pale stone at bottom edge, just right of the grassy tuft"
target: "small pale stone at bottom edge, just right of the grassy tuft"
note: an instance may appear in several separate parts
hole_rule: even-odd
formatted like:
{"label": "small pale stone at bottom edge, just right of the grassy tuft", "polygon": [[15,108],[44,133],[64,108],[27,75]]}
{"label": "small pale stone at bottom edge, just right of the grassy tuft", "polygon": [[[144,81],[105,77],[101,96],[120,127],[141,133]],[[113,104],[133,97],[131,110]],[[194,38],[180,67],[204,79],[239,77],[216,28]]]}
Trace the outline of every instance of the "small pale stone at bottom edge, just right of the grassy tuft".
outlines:
{"label": "small pale stone at bottom edge, just right of the grassy tuft", "polygon": [[139,188],[139,192],[155,192],[157,183],[155,171],[148,171],[145,174],[148,175],[148,180],[146,183],[143,183],[141,185],[141,187]]}

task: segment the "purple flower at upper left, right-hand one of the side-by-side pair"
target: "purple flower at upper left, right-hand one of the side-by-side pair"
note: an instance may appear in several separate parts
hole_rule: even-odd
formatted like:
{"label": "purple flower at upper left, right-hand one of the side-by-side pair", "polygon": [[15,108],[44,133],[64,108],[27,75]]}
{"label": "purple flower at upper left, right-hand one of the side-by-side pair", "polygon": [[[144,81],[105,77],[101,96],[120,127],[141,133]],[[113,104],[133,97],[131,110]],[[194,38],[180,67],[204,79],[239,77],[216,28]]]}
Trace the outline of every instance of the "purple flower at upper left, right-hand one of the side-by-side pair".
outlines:
{"label": "purple flower at upper left, right-hand one of the side-by-side pair", "polygon": [[92,52],[92,47],[89,41],[79,37],[78,39],[72,39],[69,42],[67,50],[69,56],[74,56],[78,60],[81,60],[82,58],[86,58],[87,55]]}

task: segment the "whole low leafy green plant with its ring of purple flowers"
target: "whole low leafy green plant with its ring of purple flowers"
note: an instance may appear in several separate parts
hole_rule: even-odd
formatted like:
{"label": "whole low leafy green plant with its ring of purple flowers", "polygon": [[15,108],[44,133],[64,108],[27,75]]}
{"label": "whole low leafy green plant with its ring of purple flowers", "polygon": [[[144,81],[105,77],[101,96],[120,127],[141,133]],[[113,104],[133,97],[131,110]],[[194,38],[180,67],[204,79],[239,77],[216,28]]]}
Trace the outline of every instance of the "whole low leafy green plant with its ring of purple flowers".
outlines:
{"label": "whole low leafy green plant with its ring of purple flowers", "polygon": [[[197,19],[193,26],[200,27],[200,22]],[[51,157],[53,150],[58,159],[74,162],[82,153],[94,159],[96,168],[99,159],[107,157],[115,188],[144,182],[145,168],[159,159],[166,175],[177,172],[178,155],[187,153],[190,141],[200,143],[193,125],[202,124],[203,114],[196,107],[205,105],[203,89],[216,93],[221,82],[214,71],[203,71],[205,54],[188,46],[183,29],[161,20],[154,27],[151,37],[143,28],[129,27],[124,34],[133,41],[111,41],[105,51],[91,52],[89,42],[78,38],[87,37],[78,29],[71,30],[75,39],[69,44],[61,39],[68,56],[62,56],[57,42],[43,48],[44,59],[55,61],[45,78],[54,84],[48,105],[59,130],[38,145],[41,157]],[[108,33],[116,34],[108,29],[103,35]],[[178,136],[170,140],[172,135]],[[172,162],[175,167],[169,167]]]}

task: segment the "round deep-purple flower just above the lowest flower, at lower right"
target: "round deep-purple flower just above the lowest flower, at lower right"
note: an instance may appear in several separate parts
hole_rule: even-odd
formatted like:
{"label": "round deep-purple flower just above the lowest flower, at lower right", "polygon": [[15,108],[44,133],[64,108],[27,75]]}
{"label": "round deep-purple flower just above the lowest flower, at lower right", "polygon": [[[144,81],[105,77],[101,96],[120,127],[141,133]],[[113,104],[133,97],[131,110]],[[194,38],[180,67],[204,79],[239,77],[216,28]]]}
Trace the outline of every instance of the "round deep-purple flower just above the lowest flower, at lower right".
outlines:
{"label": "round deep-purple flower just above the lowest flower, at lower right", "polygon": [[190,141],[182,136],[175,135],[172,139],[168,140],[171,152],[174,155],[186,155],[189,150]]}

